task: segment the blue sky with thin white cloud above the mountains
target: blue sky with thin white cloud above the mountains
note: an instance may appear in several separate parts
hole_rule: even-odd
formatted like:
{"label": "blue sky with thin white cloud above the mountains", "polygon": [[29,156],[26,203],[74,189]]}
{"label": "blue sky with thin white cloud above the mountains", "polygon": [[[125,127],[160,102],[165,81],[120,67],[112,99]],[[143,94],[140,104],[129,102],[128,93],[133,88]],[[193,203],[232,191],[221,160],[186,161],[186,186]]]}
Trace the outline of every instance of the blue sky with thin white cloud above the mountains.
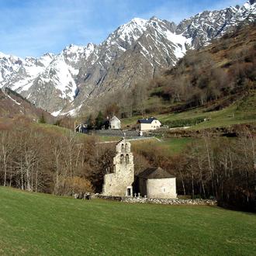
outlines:
{"label": "blue sky with thin white cloud above the mountains", "polygon": [[19,57],[101,43],[134,17],[178,23],[203,10],[246,0],[0,0],[0,51]]}

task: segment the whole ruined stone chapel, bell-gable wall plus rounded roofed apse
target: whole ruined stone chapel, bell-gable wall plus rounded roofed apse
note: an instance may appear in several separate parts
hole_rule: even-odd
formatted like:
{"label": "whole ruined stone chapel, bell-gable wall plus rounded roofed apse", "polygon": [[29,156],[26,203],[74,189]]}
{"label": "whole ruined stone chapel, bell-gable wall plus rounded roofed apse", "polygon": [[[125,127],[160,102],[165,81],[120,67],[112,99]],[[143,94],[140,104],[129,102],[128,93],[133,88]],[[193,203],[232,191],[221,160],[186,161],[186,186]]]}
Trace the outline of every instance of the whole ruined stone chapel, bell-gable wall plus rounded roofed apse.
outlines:
{"label": "whole ruined stone chapel, bell-gable wall plus rounded roofed apse", "polygon": [[113,172],[104,176],[103,195],[133,196],[133,192],[136,192],[148,198],[177,198],[176,178],[168,171],[147,168],[134,176],[133,154],[130,143],[125,138],[116,145],[113,164]]}

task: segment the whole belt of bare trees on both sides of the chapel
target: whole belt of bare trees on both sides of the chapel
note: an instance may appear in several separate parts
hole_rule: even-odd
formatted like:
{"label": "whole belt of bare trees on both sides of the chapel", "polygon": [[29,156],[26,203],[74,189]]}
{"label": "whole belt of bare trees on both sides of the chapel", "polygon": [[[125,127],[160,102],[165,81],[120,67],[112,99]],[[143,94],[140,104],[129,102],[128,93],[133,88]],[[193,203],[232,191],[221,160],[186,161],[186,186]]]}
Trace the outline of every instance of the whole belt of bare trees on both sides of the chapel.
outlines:
{"label": "whole belt of bare trees on both sides of the chapel", "polygon": [[[0,133],[0,185],[56,195],[101,192],[112,170],[113,144],[16,123]],[[238,138],[205,134],[182,153],[155,144],[133,146],[136,174],[160,166],[177,178],[178,195],[216,198],[220,205],[256,211],[256,138],[244,126]]]}

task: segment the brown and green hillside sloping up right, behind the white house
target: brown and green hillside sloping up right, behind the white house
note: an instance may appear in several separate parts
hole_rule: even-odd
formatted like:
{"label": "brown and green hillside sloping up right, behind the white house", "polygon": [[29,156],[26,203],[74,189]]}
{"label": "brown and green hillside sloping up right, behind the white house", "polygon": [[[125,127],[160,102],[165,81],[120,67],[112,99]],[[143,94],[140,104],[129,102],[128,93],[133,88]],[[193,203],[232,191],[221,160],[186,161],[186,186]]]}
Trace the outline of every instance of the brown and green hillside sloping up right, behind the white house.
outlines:
{"label": "brown and green hillside sloping up right, behind the white house", "polygon": [[256,122],[255,46],[256,25],[241,26],[202,50],[189,51],[176,67],[143,84],[144,90],[135,88],[127,99],[112,96],[120,116],[129,116],[123,124],[141,116],[157,116],[171,127],[205,118],[209,122],[202,127]]}

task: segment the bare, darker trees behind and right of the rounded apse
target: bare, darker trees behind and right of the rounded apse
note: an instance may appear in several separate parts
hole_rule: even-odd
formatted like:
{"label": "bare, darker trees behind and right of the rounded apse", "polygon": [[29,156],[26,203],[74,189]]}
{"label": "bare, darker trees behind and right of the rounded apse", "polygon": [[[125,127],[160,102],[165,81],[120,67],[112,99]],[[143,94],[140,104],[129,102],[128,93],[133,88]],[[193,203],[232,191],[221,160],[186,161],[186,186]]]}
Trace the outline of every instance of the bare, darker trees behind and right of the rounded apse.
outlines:
{"label": "bare, darker trees behind and right of the rounded apse", "polygon": [[220,206],[256,211],[256,137],[250,130],[241,130],[238,138],[205,134],[174,156],[157,145],[141,144],[135,150],[140,155],[135,158],[137,170],[149,164],[170,171],[178,195],[214,198]]}

